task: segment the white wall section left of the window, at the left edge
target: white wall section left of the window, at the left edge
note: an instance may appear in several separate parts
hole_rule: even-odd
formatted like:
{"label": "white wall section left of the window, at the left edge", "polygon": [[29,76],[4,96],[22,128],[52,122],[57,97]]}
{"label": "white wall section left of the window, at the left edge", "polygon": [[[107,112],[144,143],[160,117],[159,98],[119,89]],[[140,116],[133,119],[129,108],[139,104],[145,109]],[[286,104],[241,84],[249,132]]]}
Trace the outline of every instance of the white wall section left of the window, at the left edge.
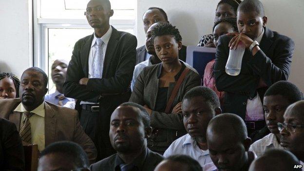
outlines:
{"label": "white wall section left of the window, at the left edge", "polygon": [[31,66],[30,0],[0,0],[0,72],[21,76]]}

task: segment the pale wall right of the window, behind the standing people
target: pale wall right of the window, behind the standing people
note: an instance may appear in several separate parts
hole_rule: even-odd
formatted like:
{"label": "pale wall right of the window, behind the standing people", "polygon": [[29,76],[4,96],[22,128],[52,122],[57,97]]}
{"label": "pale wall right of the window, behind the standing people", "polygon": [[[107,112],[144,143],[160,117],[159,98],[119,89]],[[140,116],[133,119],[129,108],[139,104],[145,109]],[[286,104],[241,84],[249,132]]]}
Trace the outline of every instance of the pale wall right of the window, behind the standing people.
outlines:
{"label": "pale wall right of the window, behind the standing people", "polygon": [[[199,37],[211,34],[215,8],[219,0],[138,0],[138,46],[145,42],[142,15],[152,6],[163,8],[169,21],[176,25],[183,44],[196,45]],[[267,26],[273,31],[292,38],[295,53],[288,81],[304,91],[304,0],[261,0],[268,16]]]}

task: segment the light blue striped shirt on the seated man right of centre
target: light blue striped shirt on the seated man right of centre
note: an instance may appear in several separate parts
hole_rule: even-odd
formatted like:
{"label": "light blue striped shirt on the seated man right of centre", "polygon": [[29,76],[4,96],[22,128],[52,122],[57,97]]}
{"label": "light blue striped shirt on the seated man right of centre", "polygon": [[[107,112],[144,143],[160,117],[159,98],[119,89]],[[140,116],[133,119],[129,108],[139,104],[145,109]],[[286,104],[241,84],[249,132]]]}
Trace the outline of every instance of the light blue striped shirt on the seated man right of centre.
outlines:
{"label": "light blue striped shirt on the seated man right of centre", "polygon": [[209,150],[201,150],[189,133],[176,139],[166,150],[164,157],[167,158],[176,154],[188,155],[197,160],[202,167],[207,163],[212,163]]}

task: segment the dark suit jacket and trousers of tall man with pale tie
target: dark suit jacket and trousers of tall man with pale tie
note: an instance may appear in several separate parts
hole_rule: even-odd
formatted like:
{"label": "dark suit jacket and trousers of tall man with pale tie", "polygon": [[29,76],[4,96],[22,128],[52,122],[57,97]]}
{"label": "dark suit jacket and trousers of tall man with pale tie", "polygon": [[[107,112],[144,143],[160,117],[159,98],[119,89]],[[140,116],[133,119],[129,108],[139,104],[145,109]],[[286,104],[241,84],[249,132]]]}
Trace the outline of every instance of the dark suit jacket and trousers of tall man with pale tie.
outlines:
{"label": "dark suit jacket and trousers of tall man with pale tie", "polygon": [[64,95],[77,99],[75,108],[79,114],[81,114],[79,105],[81,100],[98,101],[100,104],[100,114],[96,124],[99,128],[95,131],[97,139],[93,140],[98,152],[97,159],[115,153],[109,139],[110,116],[118,105],[130,98],[130,84],[136,60],[135,36],[112,28],[105,53],[102,78],[90,78],[87,86],[79,85],[81,78],[88,77],[88,58],[94,38],[94,35],[91,35],[76,42],[63,85]]}

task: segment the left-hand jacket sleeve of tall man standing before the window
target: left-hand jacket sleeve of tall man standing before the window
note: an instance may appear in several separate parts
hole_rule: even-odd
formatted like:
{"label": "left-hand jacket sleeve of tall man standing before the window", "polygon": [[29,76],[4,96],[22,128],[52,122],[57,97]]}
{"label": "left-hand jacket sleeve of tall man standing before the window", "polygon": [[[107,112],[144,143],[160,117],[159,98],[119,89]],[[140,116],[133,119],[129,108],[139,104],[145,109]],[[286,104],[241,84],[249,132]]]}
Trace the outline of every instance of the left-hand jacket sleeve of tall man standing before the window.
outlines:
{"label": "left-hand jacket sleeve of tall man standing before the window", "polygon": [[87,86],[80,85],[79,80],[84,76],[81,66],[80,52],[83,48],[84,39],[76,42],[73,50],[72,59],[70,60],[65,82],[63,84],[63,92],[66,97],[79,100],[96,102],[99,94],[96,91],[87,89]]}

